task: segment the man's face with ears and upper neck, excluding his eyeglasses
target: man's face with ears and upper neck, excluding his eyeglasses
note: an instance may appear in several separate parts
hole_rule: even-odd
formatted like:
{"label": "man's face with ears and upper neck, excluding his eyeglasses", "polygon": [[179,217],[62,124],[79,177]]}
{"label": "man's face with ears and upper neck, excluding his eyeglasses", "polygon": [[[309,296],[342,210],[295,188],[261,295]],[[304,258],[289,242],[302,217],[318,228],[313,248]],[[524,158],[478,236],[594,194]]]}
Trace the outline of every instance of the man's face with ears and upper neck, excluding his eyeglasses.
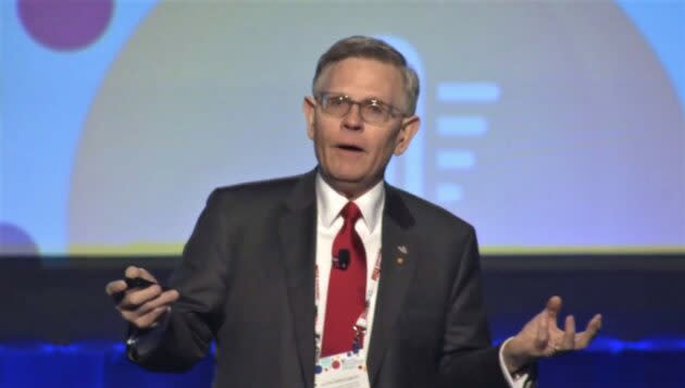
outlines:
{"label": "man's face with ears and upper neck, excluding his eyeglasses", "polygon": [[[400,71],[372,59],[334,63],[322,72],[317,86],[319,92],[349,96],[353,101],[375,99],[401,111],[407,105]],[[339,117],[307,97],[303,111],[324,179],[350,199],[383,178],[390,157],[404,152],[419,129],[419,117],[403,117],[397,111],[385,123],[365,123],[359,104]]]}

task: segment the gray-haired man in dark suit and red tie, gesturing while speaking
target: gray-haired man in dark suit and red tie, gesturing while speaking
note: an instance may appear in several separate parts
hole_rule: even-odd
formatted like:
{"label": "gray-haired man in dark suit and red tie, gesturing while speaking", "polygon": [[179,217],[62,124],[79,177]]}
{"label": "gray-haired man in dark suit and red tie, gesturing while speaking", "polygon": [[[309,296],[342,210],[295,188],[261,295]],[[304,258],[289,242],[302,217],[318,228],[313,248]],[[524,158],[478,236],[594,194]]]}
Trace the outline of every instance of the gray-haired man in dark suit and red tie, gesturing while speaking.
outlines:
{"label": "gray-haired man in dark suit and red tie, gesturing while speaking", "polygon": [[[537,359],[587,347],[601,317],[562,330],[558,297],[490,347],[473,227],[384,183],[420,123],[419,79],[398,51],[342,39],[312,91],[313,172],[215,190],[172,289],[108,284],[133,361],[180,371],[215,340],[216,387],[507,387]],[[126,277],[157,283],[137,267]]]}

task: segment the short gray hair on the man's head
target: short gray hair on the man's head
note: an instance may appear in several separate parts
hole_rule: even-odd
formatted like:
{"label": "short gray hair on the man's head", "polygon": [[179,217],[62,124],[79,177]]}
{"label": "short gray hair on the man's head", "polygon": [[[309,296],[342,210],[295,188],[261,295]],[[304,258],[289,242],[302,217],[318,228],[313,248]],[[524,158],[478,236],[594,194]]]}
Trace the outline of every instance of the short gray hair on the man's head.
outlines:
{"label": "short gray hair on the man's head", "polygon": [[381,39],[368,36],[357,35],[340,39],[321,55],[312,79],[312,93],[314,96],[319,91],[317,83],[323,71],[332,64],[348,58],[373,59],[397,67],[402,73],[404,80],[404,97],[407,100],[404,114],[414,114],[416,101],[419,100],[419,75],[413,68],[409,67],[404,55],[397,49]]}

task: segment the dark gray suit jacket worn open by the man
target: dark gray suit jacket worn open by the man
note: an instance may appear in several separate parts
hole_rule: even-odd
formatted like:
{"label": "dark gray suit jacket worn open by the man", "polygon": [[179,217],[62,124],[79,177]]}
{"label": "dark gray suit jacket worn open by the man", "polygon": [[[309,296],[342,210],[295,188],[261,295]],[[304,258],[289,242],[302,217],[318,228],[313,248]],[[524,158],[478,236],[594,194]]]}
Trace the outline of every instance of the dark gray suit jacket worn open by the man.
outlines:
{"label": "dark gray suit jacket worn open by the man", "polygon": [[[183,371],[214,339],[217,388],[313,386],[314,180],[315,171],[210,196],[171,279],[180,299],[152,347],[129,349],[137,363]],[[473,227],[386,185],[382,250],[371,386],[507,387]]]}

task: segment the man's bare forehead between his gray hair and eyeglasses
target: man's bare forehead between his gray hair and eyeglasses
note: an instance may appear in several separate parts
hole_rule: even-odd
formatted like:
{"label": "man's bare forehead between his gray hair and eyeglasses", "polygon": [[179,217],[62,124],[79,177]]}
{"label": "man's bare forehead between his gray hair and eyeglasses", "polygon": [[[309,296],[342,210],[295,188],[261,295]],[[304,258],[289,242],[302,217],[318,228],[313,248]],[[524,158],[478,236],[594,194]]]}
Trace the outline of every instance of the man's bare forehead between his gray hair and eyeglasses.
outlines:
{"label": "man's bare forehead between his gray hair and eyeglasses", "polygon": [[397,103],[402,98],[399,68],[374,59],[348,58],[333,63],[321,74],[320,89],[354,99],[378,98]]}

